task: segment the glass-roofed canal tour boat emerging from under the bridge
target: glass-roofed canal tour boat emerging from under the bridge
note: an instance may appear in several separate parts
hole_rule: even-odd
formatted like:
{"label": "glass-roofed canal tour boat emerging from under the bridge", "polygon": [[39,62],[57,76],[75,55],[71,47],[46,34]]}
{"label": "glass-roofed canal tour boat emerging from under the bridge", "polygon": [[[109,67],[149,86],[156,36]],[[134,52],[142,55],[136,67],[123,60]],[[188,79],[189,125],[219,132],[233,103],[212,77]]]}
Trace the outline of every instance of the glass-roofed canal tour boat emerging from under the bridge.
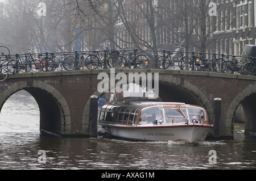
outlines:
{"label": "glass-roofed canal tour boat emerging from under the bridge", "polygon": [[203,107],[184,103],[118,102],[101,108],[98,124],[115,138],[132,141],[204,141],[209,125]]}

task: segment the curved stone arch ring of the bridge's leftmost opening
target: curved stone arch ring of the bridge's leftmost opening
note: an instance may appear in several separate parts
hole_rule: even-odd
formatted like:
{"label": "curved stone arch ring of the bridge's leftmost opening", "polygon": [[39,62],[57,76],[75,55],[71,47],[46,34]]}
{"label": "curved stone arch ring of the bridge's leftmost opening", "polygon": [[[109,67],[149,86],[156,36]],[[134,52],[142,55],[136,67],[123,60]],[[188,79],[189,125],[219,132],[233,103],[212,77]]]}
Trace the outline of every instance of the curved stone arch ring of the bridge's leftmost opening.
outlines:
{"label": "curved stone arch ring of the bridge's leftmost opening", "polygon": [[[53,103],[55,103],[55,107],[59,111],[59,130],[55,133],[58,134],[69,134],[71,131],[71,114],[69,111],[69,107],[67,104],[67,101],[61,95],[61,93],[55,89],[55,87],[49,85],[48,83],[41,82],[41,81],[35,81],[35,80],[30,80],[30,81],[20,81],[16,82],[14,85],[11,85],[8,87],[6,90],[2,92],[0,95],[0,111],[5,104],[6,100],[15,92],[18,92],[20,90],[26,90],[29,92],[35,100],[38,102],[40,112],[42,109],[44,109],[44,105],[40,103],[40,96],[47,97],[49,100],[51,100]],[[42,124],[42,114],[40,113],[40,128]],[[50,116],[50,115],[49,115]],[[46,130],[46,131],[51,131],[51,130]],[[53,130],[54,132],[54,130]]]}

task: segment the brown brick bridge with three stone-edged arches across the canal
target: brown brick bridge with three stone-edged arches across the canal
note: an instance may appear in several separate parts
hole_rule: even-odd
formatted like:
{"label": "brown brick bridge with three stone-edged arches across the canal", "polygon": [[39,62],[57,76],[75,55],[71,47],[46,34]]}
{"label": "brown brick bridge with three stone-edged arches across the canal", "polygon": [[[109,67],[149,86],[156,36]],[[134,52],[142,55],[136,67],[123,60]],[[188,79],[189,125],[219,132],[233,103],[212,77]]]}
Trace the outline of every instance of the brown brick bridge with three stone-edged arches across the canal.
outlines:
{"label": "brown brick bridge with three stone-edged arches across the canal", "polygon": [[[203,71],[122,69],[115,73],[159,73],[159,98],[165,102],[184,102],[207,109],[215,124],[214,99],[221,98],[221,116],[215,137],[233,137],[234,116],[238,106],[245,112],[246,131],[256,132],[256,77]],[[6,100],[26,90],[40,110],[40,129],[62,136],[94,137],[90,121],[90,99],[102,96],[97,86],[99,73],[110,70],[54,71],[19,73],[0,82],[0,111]],[[154,80],[153,80],[154,81]],[[95,123],[94,123],[95,124]]]}

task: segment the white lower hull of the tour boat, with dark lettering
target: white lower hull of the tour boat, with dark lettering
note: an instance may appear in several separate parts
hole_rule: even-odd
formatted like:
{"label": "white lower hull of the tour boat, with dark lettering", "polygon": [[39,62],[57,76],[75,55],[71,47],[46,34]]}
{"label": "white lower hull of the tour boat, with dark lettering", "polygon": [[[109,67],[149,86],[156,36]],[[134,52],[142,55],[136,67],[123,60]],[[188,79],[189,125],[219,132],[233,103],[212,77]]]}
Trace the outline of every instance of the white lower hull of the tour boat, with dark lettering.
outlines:
{"label": "white lower hull of the tour boat, with dark lettering", "polygon": [[152,127],[126,125],[103,125],[114,137],[137,141],[204,141],[208,133],[214,129],[209,125],[155,125]]}

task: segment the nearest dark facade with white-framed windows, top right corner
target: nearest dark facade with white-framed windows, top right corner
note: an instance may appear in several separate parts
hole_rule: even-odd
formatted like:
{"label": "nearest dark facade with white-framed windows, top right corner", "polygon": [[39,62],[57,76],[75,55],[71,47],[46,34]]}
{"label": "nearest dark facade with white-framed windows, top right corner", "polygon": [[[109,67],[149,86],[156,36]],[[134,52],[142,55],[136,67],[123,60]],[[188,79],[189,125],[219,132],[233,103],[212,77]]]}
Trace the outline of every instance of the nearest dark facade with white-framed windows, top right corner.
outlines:
{"label": "nearest dark facade with white-framed windows, top right corner", "polygon": [[240,55],[246,44],[255,44],[255,2],[255,0],[243,0],[233,5],[234,2],[229,0],[218,10],[217,19],[220,20],[228,9],[234,6],[228,18],[223,20],[221,26],[214,32],[218,53]]}

